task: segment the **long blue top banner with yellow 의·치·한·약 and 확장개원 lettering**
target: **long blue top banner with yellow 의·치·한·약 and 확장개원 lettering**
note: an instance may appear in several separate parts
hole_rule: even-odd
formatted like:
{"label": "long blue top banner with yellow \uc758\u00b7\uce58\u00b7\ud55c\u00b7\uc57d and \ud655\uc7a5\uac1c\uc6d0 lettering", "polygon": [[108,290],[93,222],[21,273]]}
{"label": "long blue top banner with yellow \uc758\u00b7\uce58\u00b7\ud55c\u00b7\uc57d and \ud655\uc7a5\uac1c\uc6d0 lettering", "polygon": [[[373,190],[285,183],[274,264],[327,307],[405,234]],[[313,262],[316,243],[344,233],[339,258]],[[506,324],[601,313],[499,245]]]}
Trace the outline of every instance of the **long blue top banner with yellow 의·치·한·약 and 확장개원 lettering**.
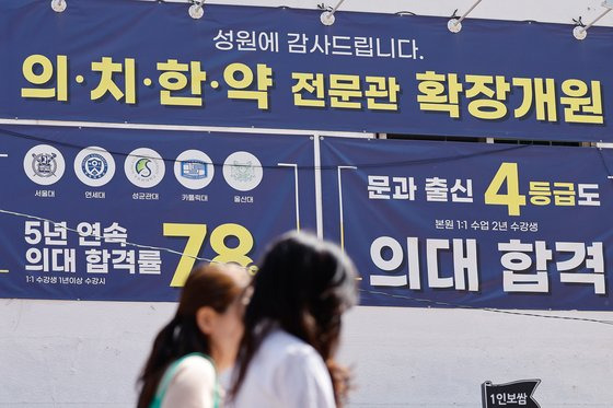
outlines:
{"label": "long blue top banner with yellow \uc758\u00b7\uce58\u00b7\ud55c\u00b7\uc57d and \ud655\uc7a5\uac1c\uc6d0 lettering", "polygon": [[0,2],[0,118],[612,141],[609,27],[187,9]]}

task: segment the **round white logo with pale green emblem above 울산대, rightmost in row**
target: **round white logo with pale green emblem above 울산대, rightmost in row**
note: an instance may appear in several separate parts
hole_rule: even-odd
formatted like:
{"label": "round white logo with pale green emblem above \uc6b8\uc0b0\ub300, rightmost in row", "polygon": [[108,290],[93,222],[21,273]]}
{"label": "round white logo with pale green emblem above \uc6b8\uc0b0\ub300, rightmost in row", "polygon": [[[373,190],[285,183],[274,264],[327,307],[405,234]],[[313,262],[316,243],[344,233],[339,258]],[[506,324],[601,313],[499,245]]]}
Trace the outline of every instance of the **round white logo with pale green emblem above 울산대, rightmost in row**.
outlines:
{"label": "round white logo with pale green emblem above \uc6b8\uc0b0\ub300, rightmost in row", "polygon": [[234,152],[223,162],[223,178],[239,191],[253,190],[262,182],[263,174],[262,163],[248,152]]}

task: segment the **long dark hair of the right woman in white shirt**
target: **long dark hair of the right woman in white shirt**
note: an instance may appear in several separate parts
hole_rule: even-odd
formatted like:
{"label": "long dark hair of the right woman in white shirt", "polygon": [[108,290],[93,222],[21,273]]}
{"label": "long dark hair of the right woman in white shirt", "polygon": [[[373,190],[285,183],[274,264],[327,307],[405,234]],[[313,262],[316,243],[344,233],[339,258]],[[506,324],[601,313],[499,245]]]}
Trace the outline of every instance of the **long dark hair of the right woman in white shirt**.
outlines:
{"label": "long dark hair of the right woman in white shirt", "polygon": [[348,371],[334,362],[334,354],[340,337],[340,316],[357,301],[351,260],[332,243],[291,232],[268,249],[252,285],[231,398],[239,393],[264,338],[280,327],[321,354],[340,405],[347,393]]}

